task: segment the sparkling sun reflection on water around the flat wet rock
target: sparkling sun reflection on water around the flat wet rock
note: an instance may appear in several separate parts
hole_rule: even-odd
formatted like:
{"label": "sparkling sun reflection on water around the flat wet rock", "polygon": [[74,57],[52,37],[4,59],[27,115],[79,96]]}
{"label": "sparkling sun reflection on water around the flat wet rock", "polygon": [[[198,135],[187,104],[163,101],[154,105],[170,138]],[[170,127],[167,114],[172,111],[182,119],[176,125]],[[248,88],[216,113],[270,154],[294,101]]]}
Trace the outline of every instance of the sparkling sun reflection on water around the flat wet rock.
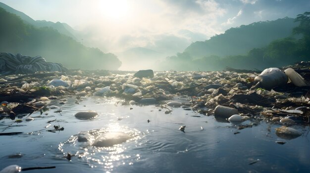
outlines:
{"label": "sparkling sun reflection on water around the flat wet rock", "polygon": [[[97,147],[93,145],[101,135],[111,134],[113,136],[113,133],[124,133],[131,138],[112,146]],[[85,142],[79,142],[78,135],[71,136],[67,141],[59,143],[58,149],[64,156],[67,153],[77,156],[72,157],[73,162],[86,162],[91,168],[102,167],[105,171],[113,171],[113,168],[121,165],[133,165],[141,158],[140,154],[136,153],[137,151],[131,150],[139,145],[139,139],[144,137],[144,133],[136,129],[112,123],[106,128],[90,130],[87,135],[88,141]]]}

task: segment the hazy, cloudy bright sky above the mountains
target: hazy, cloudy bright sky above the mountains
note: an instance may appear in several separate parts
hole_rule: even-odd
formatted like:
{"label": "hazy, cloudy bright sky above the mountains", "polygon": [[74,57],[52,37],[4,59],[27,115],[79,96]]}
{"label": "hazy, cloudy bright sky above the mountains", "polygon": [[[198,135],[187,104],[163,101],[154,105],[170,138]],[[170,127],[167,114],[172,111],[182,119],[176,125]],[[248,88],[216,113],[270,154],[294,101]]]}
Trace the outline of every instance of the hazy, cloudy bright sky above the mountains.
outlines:
{"label": "hazy, cloudy bright sky above the mountains", "polygon": [[104,52],[182,52],[231,27],[295,18],[310,0],[0,0],[35,20],[64,22]]}

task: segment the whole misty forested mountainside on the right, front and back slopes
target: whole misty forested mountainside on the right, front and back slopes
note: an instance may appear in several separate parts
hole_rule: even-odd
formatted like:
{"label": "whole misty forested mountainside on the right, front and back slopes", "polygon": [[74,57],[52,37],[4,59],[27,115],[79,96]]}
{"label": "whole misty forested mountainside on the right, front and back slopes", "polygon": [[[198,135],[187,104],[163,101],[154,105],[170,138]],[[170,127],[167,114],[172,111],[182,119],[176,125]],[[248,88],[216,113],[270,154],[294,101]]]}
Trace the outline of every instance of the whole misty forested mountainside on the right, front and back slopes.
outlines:
{"label": "whole misty forested mountainside on the right, front and back slopes", "polygon": [[[279,24],[279,22],[282,23],[281,21],[290,21],[288,23],[292,27],[290,31],[287,31],[289,28],[286,28],[284,23]],[[292,21],[295,23],[292,24]],[[281,26],[278,28],[278,33],[277,30],[271,30],[276,26],[273,22]],[[259,31],[262,29],[260,24],[271,24],[273,27],[265,26],[263,28],[270,28],[270,30],[261,32]],[[258,33],[261,38],[255,35]],[[273,35],[279,36],[279,33],[286,33],[287,36],[270,39],[270,37],[274,38]],[[268,44],[262,45],[262,42],[268,40],[270,40]],[[258,45],[250,48],[248,44]],[[243,52],[246,51],[244,47],[249,49],[246,53]],[[237,52],[240,54],[236,55]],[[294,20],[284,18],[230,29],[225,34],[216,35],[207,41],[191,44],[183,53],[167,57],[158,68],[159,70],[222,70],[228,66],[235,69],[265,69],[282,67],[298,61],[310,61],[310,12],[300,14]]]}

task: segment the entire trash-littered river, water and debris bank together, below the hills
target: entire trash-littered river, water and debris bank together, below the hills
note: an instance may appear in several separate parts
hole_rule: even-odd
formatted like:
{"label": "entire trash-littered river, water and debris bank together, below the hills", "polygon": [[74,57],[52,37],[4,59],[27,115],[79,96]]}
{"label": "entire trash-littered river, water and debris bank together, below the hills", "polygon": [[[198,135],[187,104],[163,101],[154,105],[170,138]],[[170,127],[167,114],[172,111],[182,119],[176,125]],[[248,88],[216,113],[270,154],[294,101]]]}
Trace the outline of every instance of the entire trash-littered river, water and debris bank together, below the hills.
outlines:
{"label": "entire trash-littered river, water and debris bank together, below the hills", "polygon": [[309,172],[307,69],[1,76],[0,173]]}

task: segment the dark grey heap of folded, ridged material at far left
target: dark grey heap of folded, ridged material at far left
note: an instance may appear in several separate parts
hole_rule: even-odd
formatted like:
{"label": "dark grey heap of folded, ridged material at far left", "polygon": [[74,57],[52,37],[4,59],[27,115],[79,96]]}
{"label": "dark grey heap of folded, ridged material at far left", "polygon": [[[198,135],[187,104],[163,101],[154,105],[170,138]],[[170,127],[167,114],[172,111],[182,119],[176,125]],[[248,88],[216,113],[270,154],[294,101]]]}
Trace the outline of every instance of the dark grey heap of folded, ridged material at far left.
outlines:
{"label": "dark grey heap of folded, ridged material at far left", "polygon": [[30,74],[37,71],[62,71],[67,69],[58,63],[49,63],[41,56],[30,57],[0,53],[0,74]]}

